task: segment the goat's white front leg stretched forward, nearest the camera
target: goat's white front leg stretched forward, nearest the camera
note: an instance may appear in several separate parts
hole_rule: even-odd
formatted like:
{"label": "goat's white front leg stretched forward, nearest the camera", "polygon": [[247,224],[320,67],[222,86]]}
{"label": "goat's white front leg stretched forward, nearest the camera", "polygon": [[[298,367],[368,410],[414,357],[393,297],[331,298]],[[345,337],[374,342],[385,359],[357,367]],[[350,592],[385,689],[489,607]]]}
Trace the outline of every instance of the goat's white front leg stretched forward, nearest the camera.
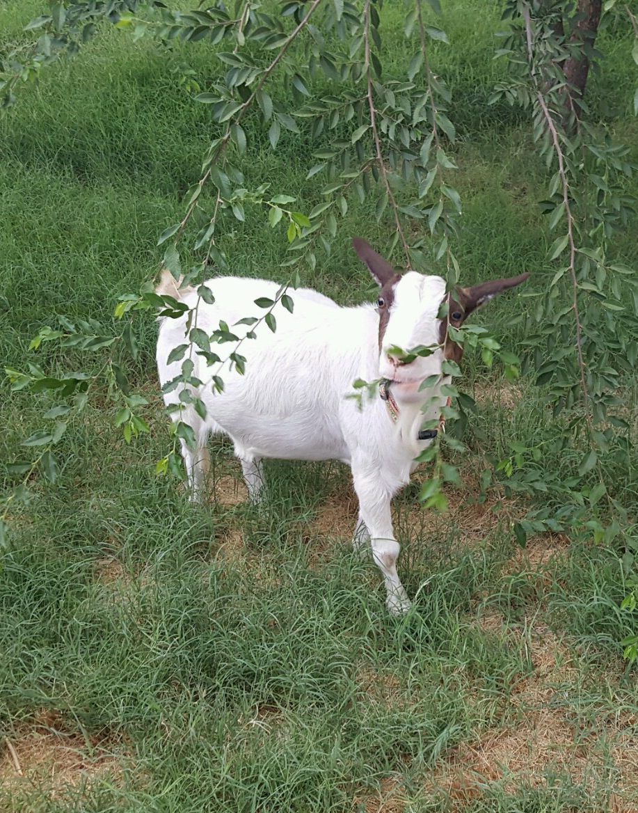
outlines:
{"label": "goat's white front leg stretched forward, nearest the camera", "polygon": [[[375,564],[384,575],[388,591],[386,606],[393,615],[410,610],[410,599],[397,573],[397,558],[401,546],[394,538],[390,501],[392,492],[376,474],[353,467],[354,490],[359,500],[357,529],[367,528],[371,537]],[[356,537],[355,537],[356,538]]]}

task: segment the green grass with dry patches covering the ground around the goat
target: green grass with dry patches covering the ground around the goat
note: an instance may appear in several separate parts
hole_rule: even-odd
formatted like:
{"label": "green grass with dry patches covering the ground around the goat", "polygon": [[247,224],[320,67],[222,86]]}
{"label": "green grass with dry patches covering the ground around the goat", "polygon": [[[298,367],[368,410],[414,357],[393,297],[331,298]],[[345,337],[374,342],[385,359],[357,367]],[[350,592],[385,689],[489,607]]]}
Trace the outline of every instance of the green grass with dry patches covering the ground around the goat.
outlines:
{"label": "green grass with dry patches covering the ground around the goat", "polygon": [[[488,107],[501,63],[490,59],[496,6],[444,3],[432,63],[453,91],[464,202],[456,253],[468,283],[532,271],[553,275],[537,202],[545,175],[527,120]],[[41,3],[8,0],[2,41],[18,41]],[[401,74],[399,4],[386,4],[385,69]],[[630,143],[626,39],[592,78],[594,119]],[[0,120],[0,356],[23,367],[85,360],[28,343],[56,314],[111,324],[114,298],[157,262],[155,241],[176,222],[213,132],[206,106],[182,93],[173,69],[214,76],[202,43],[161,51],[105,29],[79,59],[42,76]],[[306,136],[272,154],[256,129],[249,185],[269,181],[309,210],[316,185]],[[633,182],[633,193],[638,192]],[[368,281],[349,237],[387,239],[370,204],[353,203],[332,256],[303,281],[360,302]],[[258,212],[224,247],[236,272],[284,279],[283,235]],[[614,246],[636,259],[631,234]],[[480,319],[514,350],[516,320],[533,298],[504,298]],[[622,550],[586,534],[539,535],[519,549],[510,526],[530,503],[501,488],[480,498],[488,463],[515,439],[547,442],[544,476],[570,476],[566,432],[530,380],[510,387],[467,354],[475,393],[448,515],[425,514],[414,488],[397,498],[401,577],[415,610],[394,620],[375,567],[351,552],[356,506],[336,463],[271,463],[269,500],[245,502],[232,451],[214,449],[210,503],[196,507],[158,479],[167,421],[154,375],[152,320],[140,326],[132,371],[150,398],[150,438],[126,446],[115,405],[94,398],[62,443],[54,486],[12,517],[0,563],[0,808],[71,811],[499,811],[566,813],[638,808],[638,695],[618,641]],[[99,359],[96,360],[96,364]],[[635,423],[633,382],[626,409]],[[2,460],[24,454],[45,402],[2,385]],[[614,472],[614,496],[636,511],[635,472]],[[487,461],[487,463],[486,463]],[[425,476],[421,474],[419,476]],[[7,486],[10,481],[7,480]],[[558,511],[539,493],[532,506]]]}

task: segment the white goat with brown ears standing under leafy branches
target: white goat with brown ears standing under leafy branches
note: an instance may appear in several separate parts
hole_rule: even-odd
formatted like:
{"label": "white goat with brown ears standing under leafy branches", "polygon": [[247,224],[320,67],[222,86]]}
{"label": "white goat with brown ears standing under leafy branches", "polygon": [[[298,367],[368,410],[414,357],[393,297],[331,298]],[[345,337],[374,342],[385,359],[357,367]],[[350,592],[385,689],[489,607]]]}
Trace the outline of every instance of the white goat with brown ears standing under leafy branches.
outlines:
{"label": "white goat with brown ears standing under leafy branches", "polygon": [[[245,375],[225,365],[219,373],[224,392],[210,386],[210,367],[194,358],[193,375],[203,385],[190,389],[206,404],[206,419],[186,405],[181,420],[190,424],[197,449],[182,441],[182,454],[193,493],[201,491],[209,456],[211,434],[231,437],[241,461],[250,498],[262,492],[263,458],[341,460],[352,470],[359,501],[355,547],[370,541],[375,563],[384,575],[387,606],[393,613],[406,612],[410,600],[397,575],[399,544],[394,538],[390,501],[410,480],[414,457],[432,443],[432,435],[419,440],[419,429],[441,415],[441,364],[444,358],[460,359],[461,350],[447,338],[447,323],[458,327],[463,320],[497,293],[519,285],[527,274],[458,289],[449,299],[449,316],[439,318],[446,297],[445,280],[409,271],[399,276],[365,241],[355,239],[354,249],[380,285],[376,307],[370,304],[341,307],[310,289],[293,293],[294,313],[278,308],[276,333],[265,325],[241,348]],[[276,298],[280,286],[267,280],[236,276],[206,282],[215,304],[200,300],[197,326],[210,335],[220,320],[232,329],[255,311],[258,297]],[[163,273],[157,293],[170,294],[190,308],[197,302],[192,288],[178,289],[170,272]],[[157,361],[162,385],[180,375],[181,362],[167,363],[170,351],[188,335],[186,317],[164,319],[159,329]],[[397,348],[436,346],[432,354],[413,360]],[[218,371],[215,371],[218,372]],[[428,376],[440,383],[422,391]],[[362,408],[348,395],[356,379],[385,381],[382,398],[368,399]],[[179,389],[165,394],[167,406],[179,403]],[[426,405],[427,406],[424,406]],[[173,420],[180,415],[172,411]]]}

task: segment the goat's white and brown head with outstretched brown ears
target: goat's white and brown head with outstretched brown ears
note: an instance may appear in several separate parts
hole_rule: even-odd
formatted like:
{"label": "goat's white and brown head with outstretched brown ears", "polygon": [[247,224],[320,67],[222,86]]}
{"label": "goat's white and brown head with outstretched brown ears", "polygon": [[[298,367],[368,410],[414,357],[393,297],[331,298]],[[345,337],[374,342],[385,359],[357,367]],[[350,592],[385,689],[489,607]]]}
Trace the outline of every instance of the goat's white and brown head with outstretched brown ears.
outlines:
{"label": "goat's white and brown head with outstretched brown ears", "polygon": [[[505,280],[490,280],[471,288],[458,287],[445,293],[445,280],[408,271],[397,274],[365,240],[355,237],[354,250],[379,283],[379,375],[394,382],[393,393],[402,401],[423,401],[419,386],[432,375],[441,374],[444,359],[460,361],[462,347],[448,336],[448,324],[459,328],[472,311],[489,302],[498,293],[514,288],[529,274]],[[447,315],[441,319],[442,303],[447,300]],[[429,347],[429,355],[415,355],[417,348]],[[427,351],[426,351],[427,352]]]}

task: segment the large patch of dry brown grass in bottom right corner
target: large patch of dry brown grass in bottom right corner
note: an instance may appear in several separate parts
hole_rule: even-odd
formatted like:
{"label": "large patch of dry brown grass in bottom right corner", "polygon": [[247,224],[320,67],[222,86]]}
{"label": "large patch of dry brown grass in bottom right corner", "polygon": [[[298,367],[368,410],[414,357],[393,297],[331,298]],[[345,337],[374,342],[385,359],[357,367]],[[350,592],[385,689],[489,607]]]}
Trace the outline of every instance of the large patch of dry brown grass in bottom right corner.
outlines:
{"label": "large patch of dry brown grass in bottom right corner", "polygon": [[[508,634],[499,613],[486,612],[479,624]],[[428,777],[428,792],[462,806],[492,785],[513,794],[545,785],[553,774],[569,776],[574,785],[593,792],[615,774],[610,810],[638,810],[636,726],[614,731],[601,720],[593,729],[581,728],[567,703],[579,690],[574,654],[543,624],[529,629],[528,636],[533,671],[512,688],[508,721],[454,748]]]}

